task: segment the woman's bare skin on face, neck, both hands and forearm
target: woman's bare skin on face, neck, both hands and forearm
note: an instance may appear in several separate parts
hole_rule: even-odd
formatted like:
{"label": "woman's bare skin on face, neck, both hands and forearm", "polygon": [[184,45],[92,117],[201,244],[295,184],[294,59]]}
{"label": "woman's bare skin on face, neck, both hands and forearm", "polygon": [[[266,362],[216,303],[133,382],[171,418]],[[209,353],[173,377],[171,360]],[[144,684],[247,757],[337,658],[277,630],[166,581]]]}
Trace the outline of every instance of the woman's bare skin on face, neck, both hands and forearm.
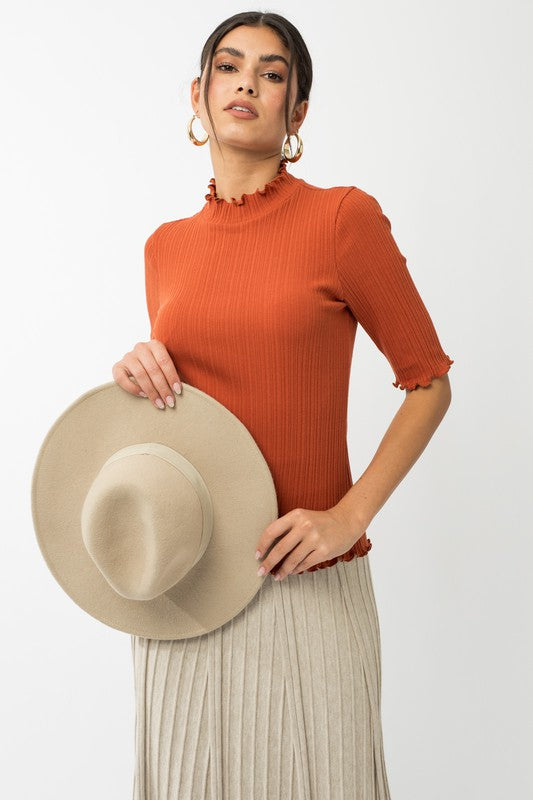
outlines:
{"label": "woman's bare skin on face, neck, both hands and forearm", "polygon": [[[209,133],[217,196],[230,202],[232,197],[264,188],[277,173],[286,137],[283,108],[288,69],[280,61],[261,62],[259,56],[276,53],[288,60],[289,52],[268,27],[235,28],[219,42],[217,49],[221,47],[237,48],[244,57],[226,52],[213,60],[209,104],[220,147],[204,105],[203,76],[192,81],[191,104]],[[293,76],[291,133],[299,130],[308,109],[308,101],[295,105],[296,89]],[[224,110],[239,99],[250,100],[258,116],[238,119]],[[161,409],[165,408],[162,398],[174,406],[171,387],[181,392],[176,367],[165,345],[156,339],[138,342],[113,365],[113,377],[125,391],[148,397]],[[257,541],[256,555],[264,558],[258,574],[268,574],[279,564],[274,577],[283,580],[349,550],[418,460],[450,402],[447,374],[427,387],[406,390],[370,464],[335,506],[325,511],[295,508],[265,528]]]}

